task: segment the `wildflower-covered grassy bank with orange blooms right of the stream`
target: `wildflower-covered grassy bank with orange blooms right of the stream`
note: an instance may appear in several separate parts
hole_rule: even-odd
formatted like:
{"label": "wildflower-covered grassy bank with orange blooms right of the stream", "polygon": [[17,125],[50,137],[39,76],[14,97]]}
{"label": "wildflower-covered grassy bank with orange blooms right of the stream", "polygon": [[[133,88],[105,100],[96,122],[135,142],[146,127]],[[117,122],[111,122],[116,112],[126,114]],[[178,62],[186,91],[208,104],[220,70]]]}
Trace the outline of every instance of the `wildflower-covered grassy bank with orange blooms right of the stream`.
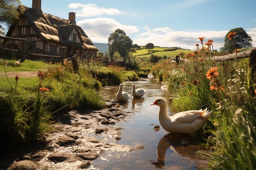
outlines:
{"label": "wildflower-covered grassy bank with orange blooms right of the stream", "polygon": [[207,124],[193,134],[207,139],[214,149],[207,155],[209,169],[255,169],[256,88],[248,59],[214,62],[209,48],[183,56],[180,64],[166,59],[151,72],[168,85],[177,111],[213,111]]}

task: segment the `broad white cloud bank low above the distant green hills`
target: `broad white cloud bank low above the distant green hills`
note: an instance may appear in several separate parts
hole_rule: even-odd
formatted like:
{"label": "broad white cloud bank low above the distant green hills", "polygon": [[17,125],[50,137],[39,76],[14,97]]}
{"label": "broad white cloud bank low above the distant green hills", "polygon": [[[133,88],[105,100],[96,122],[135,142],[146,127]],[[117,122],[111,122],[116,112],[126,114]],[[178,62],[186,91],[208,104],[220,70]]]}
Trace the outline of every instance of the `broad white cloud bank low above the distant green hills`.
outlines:
{"label": "broad white cloud bank low above the distant green hills", "polygon": [[[213,48],[219,49],[224,45],[224,38],[228,30],[225,31],[173,31],[169,27],[155,28],[153,31],[146,28],[146,32],[138,34],[134,44],[145,45],[148,42],[155,46],[181,47],[184,49],[195,49],[195,44],[200,44],[198,37],[205,37],[204,42],[213,40]],[[161,31],[159,33],[159,31]],[[164,32],[165,31],[165,32]]]}

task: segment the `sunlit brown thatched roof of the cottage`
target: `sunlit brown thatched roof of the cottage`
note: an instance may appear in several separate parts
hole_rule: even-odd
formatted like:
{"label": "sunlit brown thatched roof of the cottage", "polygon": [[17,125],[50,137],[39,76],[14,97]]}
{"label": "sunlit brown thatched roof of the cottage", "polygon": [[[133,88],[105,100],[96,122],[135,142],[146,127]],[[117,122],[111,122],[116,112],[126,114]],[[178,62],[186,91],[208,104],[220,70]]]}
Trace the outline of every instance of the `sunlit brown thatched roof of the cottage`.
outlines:
{"label": "sunlit brown thatched roof of the cottage", "polygon": [[[99,51],[80,26],[70,24],[69,20],[42,13],[34,8],[25,6],[24,8],[25,11],[23,15],[42,40],[59,42],[64,46],[75,46],[77,48]],[[83,42],[82,44],[79,42],[67,41],[74,28],[78,30],[79,37]]]}

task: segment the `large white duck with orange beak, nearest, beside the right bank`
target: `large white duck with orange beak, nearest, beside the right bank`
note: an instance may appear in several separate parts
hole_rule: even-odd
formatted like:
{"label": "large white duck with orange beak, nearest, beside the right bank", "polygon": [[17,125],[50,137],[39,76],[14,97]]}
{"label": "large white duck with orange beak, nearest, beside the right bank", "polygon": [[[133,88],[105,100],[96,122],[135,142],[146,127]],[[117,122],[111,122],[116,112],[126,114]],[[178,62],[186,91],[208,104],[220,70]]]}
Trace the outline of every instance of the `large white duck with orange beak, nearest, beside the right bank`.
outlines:
{"label": "large white duck with orange beak, nearest, beside the right bank", "polygon": [[188,110],[169,117],[167,114],[167,103],[163,98],[157,98],[150,105],[159,106],[159,122],[164,130],[171,133],[191,134],[201,128],[211,113],[206,108],[205,110]]}

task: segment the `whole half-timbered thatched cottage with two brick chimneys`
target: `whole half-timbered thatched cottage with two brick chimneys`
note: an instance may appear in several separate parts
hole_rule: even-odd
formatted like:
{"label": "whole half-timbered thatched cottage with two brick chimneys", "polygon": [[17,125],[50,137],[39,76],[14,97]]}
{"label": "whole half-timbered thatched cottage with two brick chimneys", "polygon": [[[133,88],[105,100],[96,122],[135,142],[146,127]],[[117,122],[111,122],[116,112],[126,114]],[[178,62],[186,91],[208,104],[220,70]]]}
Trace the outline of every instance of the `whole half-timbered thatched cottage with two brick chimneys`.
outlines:
{"label": "whole half-timbered thatched cottage with two brick chimneys", "polygon": [[[24,13],[10,27],[6,36],[25,38],[27,51],[61,55],[62,49],[59,47],[67,46],[67,55],[72,55],[78,50],[80,56],[96,57],[98,49],[83,29],[76,25],[76,13],[70,12],[68,20],[43,13],[41,0],[32,0],[32,8],[25,6],[24,8]],[[5,47],[16,49],[20,45],[18,43],[18,41],[7,41]]]}

